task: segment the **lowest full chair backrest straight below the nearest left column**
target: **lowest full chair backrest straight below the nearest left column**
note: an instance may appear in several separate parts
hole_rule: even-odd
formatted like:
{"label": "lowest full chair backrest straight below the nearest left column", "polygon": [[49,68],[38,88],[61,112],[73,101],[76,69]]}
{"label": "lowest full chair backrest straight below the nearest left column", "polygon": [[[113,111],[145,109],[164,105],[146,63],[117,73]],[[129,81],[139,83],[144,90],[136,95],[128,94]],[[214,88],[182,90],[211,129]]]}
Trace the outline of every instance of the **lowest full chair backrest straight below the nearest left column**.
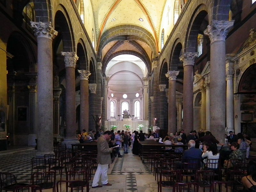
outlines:
{"label": "lowest full chair backrest straight below the nearest left column", "polygon": [[[39,185],[41,183],[53,183],[55,186],[56,183],[56,173],[53,171],[49,172],[36,172],[32,175],[32,185]],[[49,187],[48,185],[45,185]],[[44,188],[42,188],[44,189]]]}

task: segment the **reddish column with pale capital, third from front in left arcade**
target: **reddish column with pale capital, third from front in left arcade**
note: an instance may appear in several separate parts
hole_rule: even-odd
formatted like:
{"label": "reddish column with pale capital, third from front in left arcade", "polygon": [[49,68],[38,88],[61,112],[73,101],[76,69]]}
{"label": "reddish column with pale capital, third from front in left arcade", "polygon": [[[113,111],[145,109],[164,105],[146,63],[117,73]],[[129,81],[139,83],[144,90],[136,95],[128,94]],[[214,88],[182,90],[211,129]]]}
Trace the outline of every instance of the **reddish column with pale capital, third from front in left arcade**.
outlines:
{"label": "reddish column with pale capital, third from front in left arcade", "polygon": [[89,70],[77,70],[80,74],[80,131],[89,130]]}

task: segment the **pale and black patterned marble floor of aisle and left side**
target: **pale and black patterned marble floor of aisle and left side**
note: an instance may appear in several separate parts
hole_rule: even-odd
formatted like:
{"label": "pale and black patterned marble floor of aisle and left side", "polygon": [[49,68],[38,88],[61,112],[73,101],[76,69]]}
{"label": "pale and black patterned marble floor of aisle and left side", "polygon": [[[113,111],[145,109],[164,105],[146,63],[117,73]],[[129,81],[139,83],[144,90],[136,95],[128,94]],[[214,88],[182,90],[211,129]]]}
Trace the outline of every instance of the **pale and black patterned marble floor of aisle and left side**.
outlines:
{"label": "pale and black patterned marble floor of aisle and left side", "polygon": [[[123,150],[120,150],[120,152],[123,154]],[[140,157],[133,155],[130,148],[128,152],[128,154],[123,154],[122,158],[116,157],[115,161],[110,164],[108,182],[112,186],[92,188],[92,180],[90,180],[91,192],[157,192],[157,181],[155,176],[153,176],[153,172],[151,172],[151,168],[146,163],[142,164]],[[1,155],[0,172],[12,172],[16,175],[18,182],[29,183],[31,173],[30,161],[35,155],[36,150]],[[59,178],[57,177],[56,180],[59,180]],[[48,190],[44,191],[48,192]],[[50,189],[50,191],[52,190]],[[170,192],[172,189],[163,188],[162,191]],[[209,190],[206,189],[206,191]]]}

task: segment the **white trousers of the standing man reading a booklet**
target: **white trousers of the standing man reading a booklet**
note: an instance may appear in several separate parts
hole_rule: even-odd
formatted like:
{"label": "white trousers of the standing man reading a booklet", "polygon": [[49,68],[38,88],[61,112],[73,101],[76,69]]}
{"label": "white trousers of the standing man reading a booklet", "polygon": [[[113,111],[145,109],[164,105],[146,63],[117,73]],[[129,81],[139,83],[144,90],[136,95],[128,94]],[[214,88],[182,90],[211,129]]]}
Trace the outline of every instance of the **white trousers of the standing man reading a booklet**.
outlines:
{"label": "white trousers of the standing man reading a booklet", "polygon": [[97,171],[95,172],[95,175],[93,177],[92,181],[92,187],[96,187],[99,184],[100,181],[100,175],[101,175],[101,184],[106,185],[108,183],[108,164],[102,165],[98,164]]}

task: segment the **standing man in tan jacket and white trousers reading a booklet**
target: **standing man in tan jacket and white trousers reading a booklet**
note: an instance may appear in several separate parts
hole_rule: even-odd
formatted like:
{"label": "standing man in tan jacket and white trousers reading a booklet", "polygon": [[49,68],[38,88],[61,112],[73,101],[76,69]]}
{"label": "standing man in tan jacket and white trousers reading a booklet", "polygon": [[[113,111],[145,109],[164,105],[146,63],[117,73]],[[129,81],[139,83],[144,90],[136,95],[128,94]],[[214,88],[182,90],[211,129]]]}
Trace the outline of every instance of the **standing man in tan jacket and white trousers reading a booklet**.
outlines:
{"label": "standing man in tan jacket and white trousers reading a booklet", "polygon": [[[104,135],[101,135],[97,140],[97,163],[98,168],[95,172],[93,181],[92,181],[92,188],[102,187],[102,185],[111,186],[112,184],[108,183],[108,164],[111,164],[111,156],[110,153],[112,152],[113,148],[108,147],[108,141],[111,138],[111,132],[106,131]],[[101,175],[101,183],[99,185],[98,182],[100,181]]]}

